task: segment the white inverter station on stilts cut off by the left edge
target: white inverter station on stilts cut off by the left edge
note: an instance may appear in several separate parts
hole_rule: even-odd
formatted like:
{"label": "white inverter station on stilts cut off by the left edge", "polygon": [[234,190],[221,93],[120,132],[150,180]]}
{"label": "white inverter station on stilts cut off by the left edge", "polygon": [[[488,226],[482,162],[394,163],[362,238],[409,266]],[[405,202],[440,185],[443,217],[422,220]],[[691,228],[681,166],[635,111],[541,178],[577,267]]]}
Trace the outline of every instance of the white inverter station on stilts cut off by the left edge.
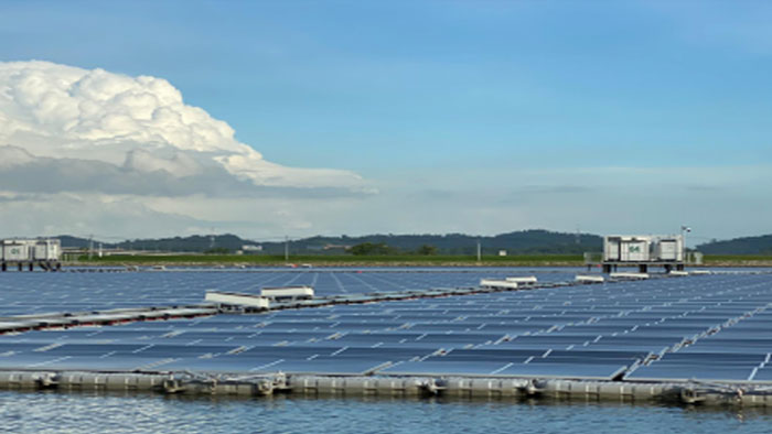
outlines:
{"label": "white inverter station on stilts cut off by the left edge", "polygon": [[2,271],[18,268],[19,271],[34,270],[35,265],[45,271],[62,269],[62,242],[55,238],[11,238],[0,240],[0,264]]}

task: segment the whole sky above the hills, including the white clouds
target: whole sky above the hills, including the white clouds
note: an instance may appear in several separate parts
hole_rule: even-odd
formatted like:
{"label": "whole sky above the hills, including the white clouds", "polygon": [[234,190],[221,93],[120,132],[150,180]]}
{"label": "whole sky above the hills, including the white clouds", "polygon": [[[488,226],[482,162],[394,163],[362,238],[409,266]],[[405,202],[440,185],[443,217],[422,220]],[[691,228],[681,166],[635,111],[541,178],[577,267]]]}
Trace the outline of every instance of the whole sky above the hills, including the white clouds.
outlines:
{"label": "whole sky above the hills, including the white clouds", "polygon": [[772,3],[0,1],[0,235],[772,232]]}

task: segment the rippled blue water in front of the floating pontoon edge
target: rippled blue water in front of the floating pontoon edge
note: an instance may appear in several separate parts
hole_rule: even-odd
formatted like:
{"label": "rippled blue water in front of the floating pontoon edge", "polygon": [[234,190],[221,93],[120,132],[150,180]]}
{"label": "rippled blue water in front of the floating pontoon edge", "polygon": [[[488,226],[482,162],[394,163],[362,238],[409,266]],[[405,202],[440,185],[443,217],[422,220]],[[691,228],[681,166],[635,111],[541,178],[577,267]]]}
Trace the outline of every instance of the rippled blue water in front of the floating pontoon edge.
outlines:
{"label": "rippled blue water in front of the floating pontoon edge", "polygon": [[768,433],[772,413],[677,406],[439,400],[181,399],[0,392],[14,433]]}

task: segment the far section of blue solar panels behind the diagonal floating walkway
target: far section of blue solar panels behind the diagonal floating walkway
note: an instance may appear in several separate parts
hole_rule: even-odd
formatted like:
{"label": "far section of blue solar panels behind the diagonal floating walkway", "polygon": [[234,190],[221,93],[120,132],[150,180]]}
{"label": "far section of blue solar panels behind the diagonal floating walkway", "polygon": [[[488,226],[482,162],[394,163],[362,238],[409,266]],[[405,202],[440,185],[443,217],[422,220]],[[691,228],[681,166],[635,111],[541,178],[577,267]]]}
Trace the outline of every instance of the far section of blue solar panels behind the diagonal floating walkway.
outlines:
{"label": "far section of blue solar panels behind the diagonal floating walkway", "polygon": [[[312,285],[317,295],[476,286],[486,276],[523,275],[524,269],[248,270],[169,272],[0,273],[0,315],[85,312],[201,303],[206,290],[259,294],[262,286]],[[570,271],[540,272],[567,281]]]}

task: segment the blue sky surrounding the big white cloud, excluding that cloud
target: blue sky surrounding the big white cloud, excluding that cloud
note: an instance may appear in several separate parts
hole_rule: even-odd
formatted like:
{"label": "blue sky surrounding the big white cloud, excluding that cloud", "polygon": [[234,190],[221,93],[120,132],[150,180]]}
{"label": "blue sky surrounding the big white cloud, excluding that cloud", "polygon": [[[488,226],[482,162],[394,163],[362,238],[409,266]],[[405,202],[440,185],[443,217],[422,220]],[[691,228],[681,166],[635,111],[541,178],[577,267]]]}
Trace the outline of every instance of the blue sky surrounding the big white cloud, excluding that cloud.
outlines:
{"label": "blue sky surrounding the big white cloud, excluding that cloud", "polygon": [[[12,41],[0,61],[165,78],[266,160],[351,171],[378,191],[357,199],[356,223],[286,230],[772,231],[769,2],[10,1],[0,11],[0,39]],[[601,197],[621,209],[602,213]],[[470,206],[479,213],[451,216]],[[395,208],[411,211],[383,218]]]}

